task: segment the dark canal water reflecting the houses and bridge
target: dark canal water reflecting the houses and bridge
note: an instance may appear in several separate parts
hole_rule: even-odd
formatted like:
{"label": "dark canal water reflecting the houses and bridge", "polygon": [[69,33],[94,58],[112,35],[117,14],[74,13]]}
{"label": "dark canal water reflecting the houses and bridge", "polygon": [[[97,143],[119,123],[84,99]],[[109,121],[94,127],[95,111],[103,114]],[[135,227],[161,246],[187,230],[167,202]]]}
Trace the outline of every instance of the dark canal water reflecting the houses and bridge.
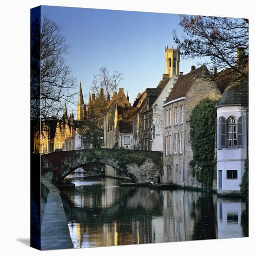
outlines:
{"label": "dark canal water reflecting the houses and bridge", "polygon": [[75,248],[248,236],[245,203],[201,192],[120,187],[118,179],[68,178],[61,189]]}

